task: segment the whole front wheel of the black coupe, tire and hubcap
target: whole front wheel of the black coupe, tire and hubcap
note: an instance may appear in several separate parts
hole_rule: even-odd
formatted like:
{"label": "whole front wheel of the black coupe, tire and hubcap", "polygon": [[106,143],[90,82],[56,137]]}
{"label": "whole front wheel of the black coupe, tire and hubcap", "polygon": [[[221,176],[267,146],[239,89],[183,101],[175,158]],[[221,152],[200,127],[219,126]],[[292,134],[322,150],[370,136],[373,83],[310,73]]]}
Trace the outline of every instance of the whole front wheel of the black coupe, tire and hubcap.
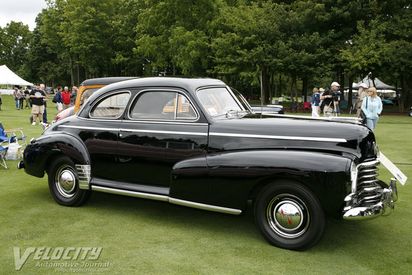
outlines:
{"label": "whole front wheel of the black coupe, tire and hubcap", "polygon": [[295,181],[276,181],[256,198],[255,223],[264,238],[279,248],[303,251],[325,232],[325,214],[313,192]]}

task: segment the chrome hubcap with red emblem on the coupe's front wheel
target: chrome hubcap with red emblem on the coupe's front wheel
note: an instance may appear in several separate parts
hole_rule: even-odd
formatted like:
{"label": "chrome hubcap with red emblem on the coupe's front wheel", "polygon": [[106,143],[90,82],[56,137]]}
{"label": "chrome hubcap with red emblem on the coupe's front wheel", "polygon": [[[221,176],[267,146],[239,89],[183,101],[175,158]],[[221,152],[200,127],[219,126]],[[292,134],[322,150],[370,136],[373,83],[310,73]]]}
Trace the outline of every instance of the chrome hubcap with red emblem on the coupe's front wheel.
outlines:
{"label": "chrome hubcap with red emblem on the coupe's front wheel", "polygon": [[310,220],[305,203],[289,194],[277,195],[268,203],[266,219],[272,230],[288,239],[304,234]]}

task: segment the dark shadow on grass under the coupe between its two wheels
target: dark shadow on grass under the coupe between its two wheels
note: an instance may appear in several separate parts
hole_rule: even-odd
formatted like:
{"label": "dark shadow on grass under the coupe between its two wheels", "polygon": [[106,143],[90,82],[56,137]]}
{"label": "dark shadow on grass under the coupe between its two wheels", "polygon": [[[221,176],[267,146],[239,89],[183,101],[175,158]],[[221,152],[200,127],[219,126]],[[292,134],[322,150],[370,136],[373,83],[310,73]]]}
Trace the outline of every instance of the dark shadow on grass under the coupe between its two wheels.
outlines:
{"label": "dark shadow on grass under the coupe between its two wheels", "polygon": [[[152,223],[167,226],[192,227],[201,230],[233,232],[237,236],[262,239],[253,219],[253,207],[248,204],[244,214],[232,215],[179,206],[165,201],[153,201],[122,195],[93,192],[82,207],[98,208],[105,214],[128,216],[130,219],[150,219]],[[263,240],[263,239],[262,239]]]}

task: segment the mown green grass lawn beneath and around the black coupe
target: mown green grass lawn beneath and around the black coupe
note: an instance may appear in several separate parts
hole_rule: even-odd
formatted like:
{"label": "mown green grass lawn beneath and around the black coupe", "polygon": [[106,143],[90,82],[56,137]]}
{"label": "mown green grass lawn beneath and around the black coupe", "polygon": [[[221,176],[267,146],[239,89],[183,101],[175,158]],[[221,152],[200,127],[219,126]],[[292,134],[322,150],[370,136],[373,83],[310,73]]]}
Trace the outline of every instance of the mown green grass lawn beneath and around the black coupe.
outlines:
{"label": "mown green grass lawn beneath and around the black coupe", "polygon": [[[23,127],[29,140],[38,137],[42,127],[30,125],[30,110],[17,111],[10,96],[2,97],[3,126]],[[41,247],[102,248],[97,260],[86,262],[108,262],[108,274],[412,274],[412,118],[382,116],[375,133],[380,151],[409,177],[405,186],[398,184],[395,210],[371,221],[328,219],[325,236],[306,252],[266,243],[251,208],[236,217],[100,192],[82,207],[59,206],[47,177],[32,177],[17,170],[18,161],[7,161],[8,170],[0,167],[0,274],[64,274],[69,267],[36,265],[84,262],[31,254],[14,270],[14,248],[23,254]],[[389,182],[384,166],[379,173]]]}

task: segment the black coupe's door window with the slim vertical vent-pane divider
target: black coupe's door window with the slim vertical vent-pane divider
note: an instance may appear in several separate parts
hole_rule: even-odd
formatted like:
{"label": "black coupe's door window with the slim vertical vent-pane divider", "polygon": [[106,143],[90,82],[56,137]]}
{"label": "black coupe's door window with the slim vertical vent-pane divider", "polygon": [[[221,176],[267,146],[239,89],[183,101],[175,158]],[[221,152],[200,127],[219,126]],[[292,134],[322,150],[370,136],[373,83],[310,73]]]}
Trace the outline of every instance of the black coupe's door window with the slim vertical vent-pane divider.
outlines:
{"label": "black coupe's door window with the slim vertical vent-pane divider", "polygon": [[196,111],[185,96],[175,91],[148,91],[137,99],[130,118],[140,119],[194,119]]}

